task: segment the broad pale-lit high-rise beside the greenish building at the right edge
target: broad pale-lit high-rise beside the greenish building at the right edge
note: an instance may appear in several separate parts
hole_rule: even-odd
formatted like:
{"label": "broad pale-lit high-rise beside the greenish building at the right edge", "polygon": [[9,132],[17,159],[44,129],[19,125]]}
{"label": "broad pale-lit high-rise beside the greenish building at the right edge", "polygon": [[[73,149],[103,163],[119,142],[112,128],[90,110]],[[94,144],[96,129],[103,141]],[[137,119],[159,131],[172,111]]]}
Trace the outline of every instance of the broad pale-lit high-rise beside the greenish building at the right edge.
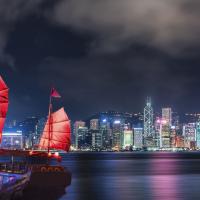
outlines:
{"label": "broad pale-lit high-rise beside the greenish building at the right edge", "polygon": [[196,146],[196,123],[184,124],[183,136],[185,147],[194,149]]}

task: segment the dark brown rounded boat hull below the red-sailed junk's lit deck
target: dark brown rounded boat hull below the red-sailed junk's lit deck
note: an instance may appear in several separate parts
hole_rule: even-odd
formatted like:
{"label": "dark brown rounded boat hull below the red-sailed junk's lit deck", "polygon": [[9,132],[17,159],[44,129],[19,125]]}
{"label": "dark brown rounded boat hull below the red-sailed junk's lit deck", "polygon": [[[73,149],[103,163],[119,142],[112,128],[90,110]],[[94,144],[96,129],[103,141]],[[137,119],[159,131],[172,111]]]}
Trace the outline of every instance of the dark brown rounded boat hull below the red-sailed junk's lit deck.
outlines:
{"label": "dark brown rounded boat hull below the red-sailed junk's lit deck", "polygon": [[[59,169],[59,170],[58,170]],[[66,193],[71,184],[71,173],[60,166],[32,166],[30,181],[23,199],[57,200]]]}

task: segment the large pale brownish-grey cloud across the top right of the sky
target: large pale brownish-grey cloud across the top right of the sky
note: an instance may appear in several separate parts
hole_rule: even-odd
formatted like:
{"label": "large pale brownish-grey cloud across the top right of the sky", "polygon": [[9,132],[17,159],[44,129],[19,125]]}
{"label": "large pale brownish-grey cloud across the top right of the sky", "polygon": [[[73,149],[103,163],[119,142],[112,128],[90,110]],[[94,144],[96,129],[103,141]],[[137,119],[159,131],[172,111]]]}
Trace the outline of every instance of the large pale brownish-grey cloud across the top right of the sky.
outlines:
{"label": "large pale brownish-grey cloud across the top right of the sky", "polygon": [[96,33],[92,46],[97,51],[116,52],[140,41],[168,53],[183,53],[199,45],[199,9],[198,0],[63,0],[53,19]]}

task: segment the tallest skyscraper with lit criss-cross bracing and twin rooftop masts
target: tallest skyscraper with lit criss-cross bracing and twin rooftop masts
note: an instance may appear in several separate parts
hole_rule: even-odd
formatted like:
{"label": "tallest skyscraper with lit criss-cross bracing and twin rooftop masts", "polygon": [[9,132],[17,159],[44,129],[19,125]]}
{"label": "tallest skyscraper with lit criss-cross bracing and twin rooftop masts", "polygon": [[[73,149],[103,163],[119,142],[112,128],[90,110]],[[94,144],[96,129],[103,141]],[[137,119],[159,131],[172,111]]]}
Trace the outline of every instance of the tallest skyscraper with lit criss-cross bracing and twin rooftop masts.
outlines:
{"label": "tallest skyscraper with lit criss-cross bracing and twin rooftop masts", "polygon": [[151,98],[148,97],[146,101],[146,106],[144,107],[144,145],[153,145],[153,107],[151,104]]}

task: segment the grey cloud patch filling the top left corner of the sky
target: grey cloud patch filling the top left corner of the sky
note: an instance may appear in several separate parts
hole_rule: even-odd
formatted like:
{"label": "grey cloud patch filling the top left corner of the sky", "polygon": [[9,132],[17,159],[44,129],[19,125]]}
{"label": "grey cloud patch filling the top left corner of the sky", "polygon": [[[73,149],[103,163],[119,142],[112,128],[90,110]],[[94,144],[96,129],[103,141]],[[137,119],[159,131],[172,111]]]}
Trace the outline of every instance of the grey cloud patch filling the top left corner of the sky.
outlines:
{"label": "grey cloud patch filling the top left corner of the sky", "polygon": [[18,20],[35,13],[43,2],[45,0],[0,0],[0,61],[13,70],[16,70],[14,58],[5,51],[9,33],[14,31]]}

